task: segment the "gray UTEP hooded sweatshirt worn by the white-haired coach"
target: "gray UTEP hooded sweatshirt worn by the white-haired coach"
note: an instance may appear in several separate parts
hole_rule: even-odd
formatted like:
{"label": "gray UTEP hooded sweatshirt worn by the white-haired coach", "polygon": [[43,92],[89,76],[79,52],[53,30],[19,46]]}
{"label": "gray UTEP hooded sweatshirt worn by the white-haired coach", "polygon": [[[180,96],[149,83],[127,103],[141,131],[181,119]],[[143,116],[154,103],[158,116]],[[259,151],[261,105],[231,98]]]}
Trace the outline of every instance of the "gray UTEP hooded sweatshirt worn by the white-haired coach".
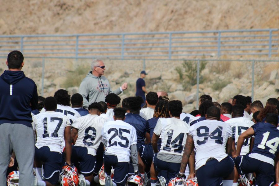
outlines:
{"label": "gray UTEP hooded sweatshirt worn by the white-haired coach", "polygon": [[118,88],[111,91],[109,82],[104,76],[97,77],[90,71],[79,86],[79,93],[83,97],[83,107],[88,108],[91,103],[104,101],[109,93],[119,95],[122,91]]}

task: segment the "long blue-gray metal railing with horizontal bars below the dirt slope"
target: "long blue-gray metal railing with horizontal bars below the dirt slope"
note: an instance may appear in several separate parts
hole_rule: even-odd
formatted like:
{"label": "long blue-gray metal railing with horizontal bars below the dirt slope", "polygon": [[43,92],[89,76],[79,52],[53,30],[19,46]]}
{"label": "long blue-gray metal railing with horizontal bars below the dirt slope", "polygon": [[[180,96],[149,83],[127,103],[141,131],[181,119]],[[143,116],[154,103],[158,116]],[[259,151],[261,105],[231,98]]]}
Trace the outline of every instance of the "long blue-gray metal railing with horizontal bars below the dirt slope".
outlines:
{"label": "long blue-gray metal railing with horizontal bars below the dirt slope", "polygon": [[190,56],[278,55],[278,29],[188,32],[1,35],[0,57],[182,59]]}

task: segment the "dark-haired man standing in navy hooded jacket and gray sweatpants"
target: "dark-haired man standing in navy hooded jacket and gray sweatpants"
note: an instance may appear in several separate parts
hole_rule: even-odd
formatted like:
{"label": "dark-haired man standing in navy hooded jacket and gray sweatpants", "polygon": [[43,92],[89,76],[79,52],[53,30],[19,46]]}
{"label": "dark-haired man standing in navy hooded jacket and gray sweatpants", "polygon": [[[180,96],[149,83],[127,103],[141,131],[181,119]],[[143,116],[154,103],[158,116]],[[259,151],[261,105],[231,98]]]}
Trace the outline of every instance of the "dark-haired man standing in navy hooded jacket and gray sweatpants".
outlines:
{"label": "dark-haired man standing in navy hooded jacket and gray sweatpants", "polygon": [[33,186],[34,132],[31,110],[37,109],[37,86],[25,77],[20,51],[9,53],[0,77],[0,185],[6,185],[6,171],[14,151],[19,165],[21,186]]}

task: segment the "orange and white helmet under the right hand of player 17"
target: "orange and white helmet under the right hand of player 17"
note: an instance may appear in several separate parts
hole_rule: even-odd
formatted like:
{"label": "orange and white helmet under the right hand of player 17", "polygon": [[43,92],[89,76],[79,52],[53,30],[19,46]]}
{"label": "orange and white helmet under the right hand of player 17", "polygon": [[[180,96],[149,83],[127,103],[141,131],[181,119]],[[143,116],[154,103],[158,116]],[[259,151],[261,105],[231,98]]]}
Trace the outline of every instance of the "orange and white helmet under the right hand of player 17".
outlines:
{"label": "orange and white helmet under the right hand of player 17", "polygon": [[60,179],[60,185],[62,186],[77,186],[79,184],[78,169],[76,167],[64,166]]}

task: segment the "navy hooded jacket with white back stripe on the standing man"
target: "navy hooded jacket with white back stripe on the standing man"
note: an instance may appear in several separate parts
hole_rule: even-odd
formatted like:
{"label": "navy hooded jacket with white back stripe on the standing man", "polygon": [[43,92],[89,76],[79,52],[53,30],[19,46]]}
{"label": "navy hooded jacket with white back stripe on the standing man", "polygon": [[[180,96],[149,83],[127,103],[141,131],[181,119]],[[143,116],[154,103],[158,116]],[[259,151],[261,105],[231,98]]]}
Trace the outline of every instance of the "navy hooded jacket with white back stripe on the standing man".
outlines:
{"label": "navy hooded jacket with white back stripe on the standing man", "polygon": [[0,78],[0,124],[20,123],[32,127],[31,110],[37,109],[37,86],[23,71],[5,70]]}

